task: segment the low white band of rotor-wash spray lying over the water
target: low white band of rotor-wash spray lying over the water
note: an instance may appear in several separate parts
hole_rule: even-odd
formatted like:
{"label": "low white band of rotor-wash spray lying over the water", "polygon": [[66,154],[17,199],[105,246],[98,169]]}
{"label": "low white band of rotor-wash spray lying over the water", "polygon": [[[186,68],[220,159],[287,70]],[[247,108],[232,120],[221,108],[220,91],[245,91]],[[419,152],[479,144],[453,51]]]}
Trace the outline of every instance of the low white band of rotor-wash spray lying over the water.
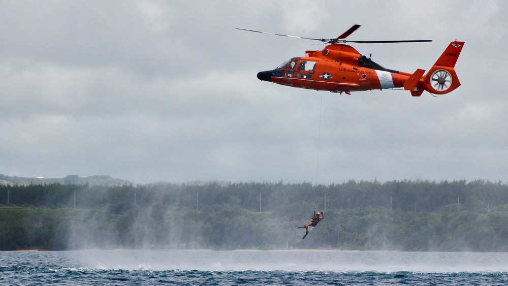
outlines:
{"label": "low white band of rotor-wash spray lying over the water", "polygon": [[508,272],[508,253],[301,250],[82,250],[83,266],[125,270]]}

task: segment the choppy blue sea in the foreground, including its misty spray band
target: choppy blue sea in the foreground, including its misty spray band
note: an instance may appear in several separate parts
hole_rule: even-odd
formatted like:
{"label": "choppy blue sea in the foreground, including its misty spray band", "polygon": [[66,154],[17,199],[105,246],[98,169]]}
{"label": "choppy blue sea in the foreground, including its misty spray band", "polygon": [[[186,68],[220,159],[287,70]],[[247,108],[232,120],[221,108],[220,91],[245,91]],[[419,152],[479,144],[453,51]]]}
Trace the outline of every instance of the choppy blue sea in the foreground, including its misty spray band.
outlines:
{"label": "choppy blue sea in the foreground, including its misty spray band", "polygon": [[504,285],[508,253],[80,250],[0,252],[0,285]]}

